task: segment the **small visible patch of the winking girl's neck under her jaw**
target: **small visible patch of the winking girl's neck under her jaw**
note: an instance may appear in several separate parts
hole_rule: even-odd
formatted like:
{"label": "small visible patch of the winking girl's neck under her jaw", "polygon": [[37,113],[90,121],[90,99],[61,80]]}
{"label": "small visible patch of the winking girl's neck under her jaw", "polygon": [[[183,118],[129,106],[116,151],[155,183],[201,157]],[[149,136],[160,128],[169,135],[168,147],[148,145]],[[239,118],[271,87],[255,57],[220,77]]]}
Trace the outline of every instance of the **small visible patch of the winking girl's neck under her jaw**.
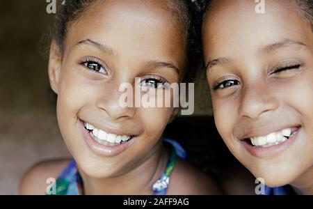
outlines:
{"label": "small visible patch of the winking girl's neck under her jaw", "polygon": [[294,183],[291,183],[297,194],[312,195],[313,194],[313,167],[307,169]]}

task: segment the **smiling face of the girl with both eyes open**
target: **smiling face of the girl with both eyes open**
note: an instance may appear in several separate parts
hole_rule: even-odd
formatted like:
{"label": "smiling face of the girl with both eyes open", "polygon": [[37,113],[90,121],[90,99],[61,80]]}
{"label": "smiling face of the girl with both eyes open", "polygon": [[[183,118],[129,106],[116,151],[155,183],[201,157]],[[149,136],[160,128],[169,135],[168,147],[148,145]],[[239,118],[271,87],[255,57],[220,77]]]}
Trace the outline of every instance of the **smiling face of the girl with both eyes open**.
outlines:
{"label": "smiling face of the girl with both eyes open", "polygon": [[[185,39],[177,27],[165,1],[99,1],[68,27],[62,61],[52,44],[49,77],[58,94],[61,134],[89,176],[125,173],[161,147],[159,139],[175,110],[122,108],[125,92],[119,87],[129,83],[153,90],[155,82],[182,79]],[[136,77],[140,83],[135,84]],[[96,142],[93,127],[87,130],[85,123],[115,145]],[[120,143],[123,139],[129,141]]]}

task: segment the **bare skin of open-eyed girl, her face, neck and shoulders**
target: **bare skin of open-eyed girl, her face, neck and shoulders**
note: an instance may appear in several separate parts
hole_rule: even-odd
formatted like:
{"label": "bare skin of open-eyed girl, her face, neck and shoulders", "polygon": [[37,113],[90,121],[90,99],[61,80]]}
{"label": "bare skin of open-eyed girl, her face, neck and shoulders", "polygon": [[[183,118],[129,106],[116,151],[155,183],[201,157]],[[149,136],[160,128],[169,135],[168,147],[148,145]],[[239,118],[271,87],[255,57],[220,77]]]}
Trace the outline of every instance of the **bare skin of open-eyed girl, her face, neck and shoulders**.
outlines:
{"label": "bare skin of open-eyed girl, her face, neck and shoulders", "polygon": [[[118,90],[122,83],[153,88],[155,80],[180,82],[186,38],[177,32],[177,21],[163,0],[99,2],[70,24],[63,56],[56,42],[51,44],[49,79],[58,94],[58,124],[79,165],[85,194],[152,194],[168,160],[162,132],[177,109],[122,108]],[[90,70],[90,64],[99,71]],[[135,84],[135,77],[142,83]],[[99,155],[86,144],[83,122],[134,137],[122,152]],[[21,193],[45,194],[46,177],[57,177],[65,164],[34,167],[22,180]],[[177,162],[168,194],[217,193],[210,178]]]}

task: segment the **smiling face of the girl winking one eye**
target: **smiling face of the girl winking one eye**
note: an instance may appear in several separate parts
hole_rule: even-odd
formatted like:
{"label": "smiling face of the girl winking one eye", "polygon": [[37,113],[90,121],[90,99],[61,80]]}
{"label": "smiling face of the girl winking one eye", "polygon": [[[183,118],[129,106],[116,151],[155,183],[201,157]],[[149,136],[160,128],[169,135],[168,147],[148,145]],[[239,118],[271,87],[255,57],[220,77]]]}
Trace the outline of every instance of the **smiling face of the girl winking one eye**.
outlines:
{"label": "smiling face of the girl winking one eye", "polygon": [[216,126],[268,186],[313,165],[313,33],[288,1],[217,1],[204,21]]}

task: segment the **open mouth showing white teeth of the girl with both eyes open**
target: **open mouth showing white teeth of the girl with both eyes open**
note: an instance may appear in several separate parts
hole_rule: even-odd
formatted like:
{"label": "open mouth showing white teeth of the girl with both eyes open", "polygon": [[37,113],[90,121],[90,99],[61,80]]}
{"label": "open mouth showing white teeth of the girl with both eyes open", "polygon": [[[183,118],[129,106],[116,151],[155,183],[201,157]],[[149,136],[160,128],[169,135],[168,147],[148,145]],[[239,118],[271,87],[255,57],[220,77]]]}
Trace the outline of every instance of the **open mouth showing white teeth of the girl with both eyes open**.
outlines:
{"label": "open mouth showing white teeth of the girl with both eyes open", "polygon": [[127,141],[130,141],[133,136],[129,135],[117,135],[104,130],[100,130],[93,125],[83,122],[85,129],[89,132],[90,137],[92,137],[97,143],[104,146],[118,146],[120,144],[125,144]]}

